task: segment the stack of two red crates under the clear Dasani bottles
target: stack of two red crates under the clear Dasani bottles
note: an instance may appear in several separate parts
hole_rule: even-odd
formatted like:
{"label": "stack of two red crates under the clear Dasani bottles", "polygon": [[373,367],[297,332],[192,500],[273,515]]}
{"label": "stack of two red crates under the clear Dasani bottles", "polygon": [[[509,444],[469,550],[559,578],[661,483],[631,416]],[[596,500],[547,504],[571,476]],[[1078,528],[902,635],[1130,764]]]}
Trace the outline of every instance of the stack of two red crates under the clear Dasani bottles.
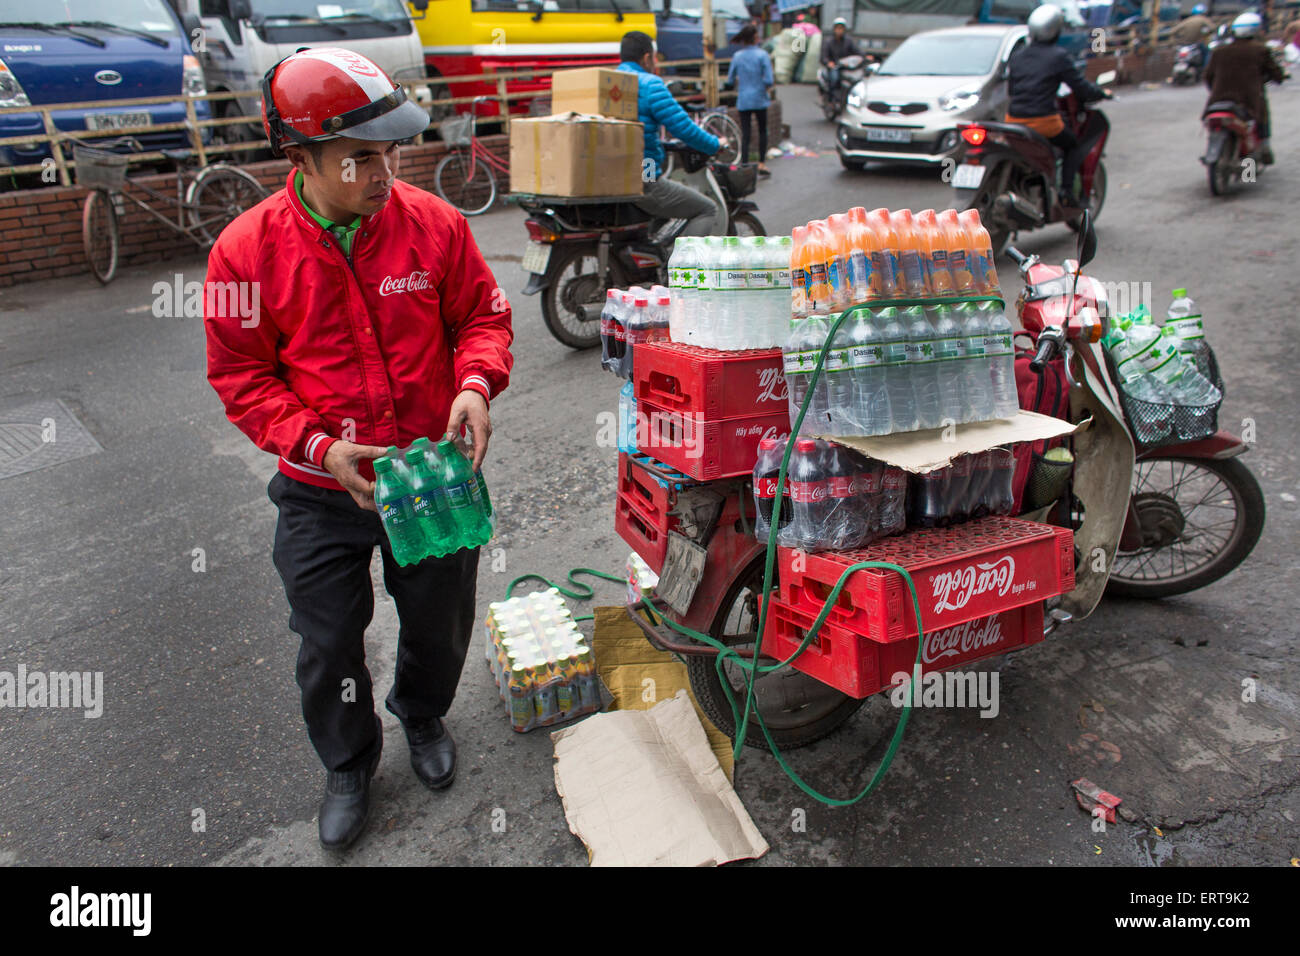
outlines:
{"label": "stack of two red crates under the clear Dasani bottles", "polygon": [[638,345],[633,389],[641,450],[701,481],[748,475],[760,440],[790,433],[780,349]]}

